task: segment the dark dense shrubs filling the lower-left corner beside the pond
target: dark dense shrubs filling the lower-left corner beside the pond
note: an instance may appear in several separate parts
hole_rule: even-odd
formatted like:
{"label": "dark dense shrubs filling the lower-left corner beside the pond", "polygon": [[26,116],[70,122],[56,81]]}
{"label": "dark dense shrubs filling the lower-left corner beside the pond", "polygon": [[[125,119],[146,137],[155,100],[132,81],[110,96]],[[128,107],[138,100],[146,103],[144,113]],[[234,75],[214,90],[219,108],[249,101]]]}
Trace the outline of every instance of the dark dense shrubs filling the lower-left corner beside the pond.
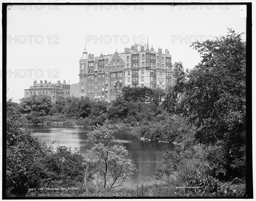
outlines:
{"label": "dark dense shrubs filling the lower-left corner beside the pond", "polygon": [[[6,121],[6,187],[7,195],[25,195],[28,188],[73,187],[88,179],[93,168],[79,150],[60,146],[56,150],[31,132],[21,129],[13,112],[16,104],[8,102]],[[89,169],[88,169],[89,167]]]}

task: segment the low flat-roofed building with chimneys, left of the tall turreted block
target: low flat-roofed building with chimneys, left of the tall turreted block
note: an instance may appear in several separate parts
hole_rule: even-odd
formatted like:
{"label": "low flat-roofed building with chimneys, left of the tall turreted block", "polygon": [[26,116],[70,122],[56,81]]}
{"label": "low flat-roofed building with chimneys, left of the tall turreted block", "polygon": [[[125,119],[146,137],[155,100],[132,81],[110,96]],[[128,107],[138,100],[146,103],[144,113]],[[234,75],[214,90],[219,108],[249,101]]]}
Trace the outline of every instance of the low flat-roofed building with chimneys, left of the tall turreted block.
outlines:
{"label": "low flat-roofed building with chimneys, left of the tall turreted block", "polygon": [[[60,80],[58,80],[57,83],[51,83],[47,82],[47,80],[40,81],[40,83],[37,83],[35,80],[33,83],[33,86],[30,86],[29,89],[24,89],[25,91],[25,98],[29,97],[31,95],[48,95],[51,97],[52,102],[55,102],[58,98],[58,96],[62,96],[64,98],[70,97],[70,84],[67,84],[65,80],[63,80],[63,83],[61,83]],[[79,97],[79,95],[77,96]]]}

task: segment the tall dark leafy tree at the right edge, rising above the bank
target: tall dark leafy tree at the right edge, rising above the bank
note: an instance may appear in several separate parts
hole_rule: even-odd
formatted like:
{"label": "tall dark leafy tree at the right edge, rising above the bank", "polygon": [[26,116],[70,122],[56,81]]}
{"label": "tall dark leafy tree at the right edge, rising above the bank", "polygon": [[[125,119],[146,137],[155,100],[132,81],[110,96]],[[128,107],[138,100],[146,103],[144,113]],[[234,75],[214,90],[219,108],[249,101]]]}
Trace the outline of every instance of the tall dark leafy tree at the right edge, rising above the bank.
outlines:
{"label": "tall dark leafy tree at the right edge, rising above the bank", "polygon": [[202,60],[185,83],[183,114],[201,128],[195,135],[199,142],[223,141],[226,168],[241,173],[239,169],[245,167],[246,43],[241,34],[229,29],[225,37],[195,42],[192,47]]}

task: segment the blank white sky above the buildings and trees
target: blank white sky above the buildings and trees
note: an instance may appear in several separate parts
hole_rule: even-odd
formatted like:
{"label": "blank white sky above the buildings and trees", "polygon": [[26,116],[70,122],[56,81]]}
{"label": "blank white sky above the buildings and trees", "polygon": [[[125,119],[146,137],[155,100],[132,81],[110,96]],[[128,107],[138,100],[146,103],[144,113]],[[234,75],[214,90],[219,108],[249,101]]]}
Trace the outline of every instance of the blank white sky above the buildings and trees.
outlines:
{"label": "blank white sky above the buildings and trees", "polygon": [[[134,40],[146,43],[148,37],[149,46],[153,45],[155,51],[159,47],[163,52],[169,49],[173,63],[182,61],[185,68],[192,69],[201,60],[198,52],[189,47],[195,37],[206,40],[207,37],[223,36],[227,34],[227,28],[246,32],[245,6],[207,6],[143,5],[140,8],[137,5],[134,8],[129,5],[126,10],[120,5],[116,8],[112,5],[109,10],[109,5],[102,9],[100,6],[58,5],[55,8],[58,10],[53,10],[54,6],[49,9],[47,5],[41,10],[35,5],[27,5],[25,9],[12,6],[7,12],[7,36],[14,38],[7,40],[7,97],[15,101],[23,98],[24,89],[28,89],[34,79],[53,83],[57,80],[62,83],[65,79],[67,83],[69,80],[70,83],[78,83],[79,59],[86,43],[87,52],[99,56],[101,52],[113,54],[116,49],[119,53],[124,52],[124,48],[131,47]],[[28,35],[32,35],[31,43]],[[90,36],[94,39],[101,35],[102,40],[86,41]],[[109,44],[110,38],[106,35],[111,36]],[[118,35],[116,43],[113,35]],[[124,44],[126,36],[129,41]],[[41,38],[44,41],[39,44]],[[183,40],[180,41],[181,38]],[[55,73],[59,78],[54,78]]]}

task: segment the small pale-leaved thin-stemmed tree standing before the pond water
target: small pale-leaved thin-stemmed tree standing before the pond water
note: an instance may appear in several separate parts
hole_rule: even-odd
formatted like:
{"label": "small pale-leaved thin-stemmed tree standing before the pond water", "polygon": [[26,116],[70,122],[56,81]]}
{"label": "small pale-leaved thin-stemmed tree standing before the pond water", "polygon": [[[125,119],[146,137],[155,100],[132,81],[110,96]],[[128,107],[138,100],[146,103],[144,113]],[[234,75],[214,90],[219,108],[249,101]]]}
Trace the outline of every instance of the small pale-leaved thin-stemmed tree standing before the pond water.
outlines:
{"label": "small pale-leaved thin-stemmed tree standing before the pond water", "polygon": [[102,176],[104,188],[121,186],[135,170],[134,163],[127,158],[127,149],[113,136],[114,132],[115,126],[104,124],[87,134],[87,141],[93,143],[87,157],[97,164],[96,173]]}

